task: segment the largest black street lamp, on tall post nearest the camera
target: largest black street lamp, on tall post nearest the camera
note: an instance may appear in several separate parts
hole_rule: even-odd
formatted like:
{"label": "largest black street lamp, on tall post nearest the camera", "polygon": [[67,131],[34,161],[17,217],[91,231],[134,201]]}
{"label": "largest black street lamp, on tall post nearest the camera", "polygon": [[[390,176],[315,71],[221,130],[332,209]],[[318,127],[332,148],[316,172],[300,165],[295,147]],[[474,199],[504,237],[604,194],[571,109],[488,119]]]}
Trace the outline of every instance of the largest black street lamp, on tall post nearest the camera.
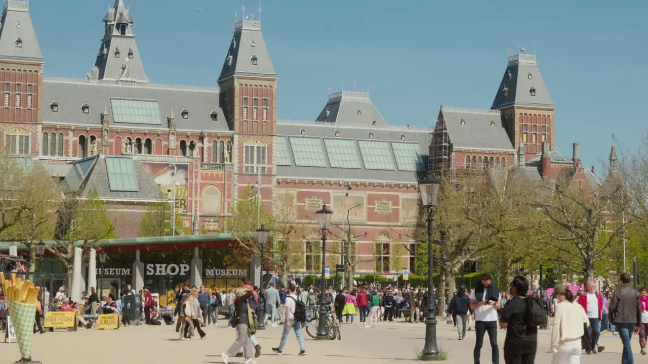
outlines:
{"label": "largest black street lamp, on tall post nearest the camera", "polygon": [[437,316],[436,293],[434,293],[434,254],[432,251],[432,234],[434,233],[434,214],[437,212],[437,198],[439,197],[441,181],[428,176],[426,181],[419,185],[423,206],[428,213],[428,307],[425,315],[425,345],[421,360],[430,361],[439,359],[437,346]]}

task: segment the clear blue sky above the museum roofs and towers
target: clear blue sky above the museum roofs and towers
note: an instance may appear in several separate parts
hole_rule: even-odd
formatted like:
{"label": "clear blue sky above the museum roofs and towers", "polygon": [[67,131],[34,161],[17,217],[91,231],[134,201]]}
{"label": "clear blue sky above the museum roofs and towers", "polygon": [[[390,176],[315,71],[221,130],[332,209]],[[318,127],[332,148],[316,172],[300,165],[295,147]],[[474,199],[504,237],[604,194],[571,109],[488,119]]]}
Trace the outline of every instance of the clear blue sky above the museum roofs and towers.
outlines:
{"label": "clear blue sky above the museum roofs and towers", "polygon": [[[32,0],[45,76],[84,77],[111,0]],[[243,1],[126,0],[146,75],[216,85]],[[579,142],[586,166],[611,135],[634,149],[645,130],[648,2],[263,0],[279,76],[279,119],[314,120],[329,87],[365,91],[389,124],[428,128],[439,104],[489,108],[508,49],[533,49],[557,106],[557,148]],[[245,1],[246,13],[259,7]],[[202,8],[202,11],[196,10]],[[531,51],[533,52],[533,51]]]}

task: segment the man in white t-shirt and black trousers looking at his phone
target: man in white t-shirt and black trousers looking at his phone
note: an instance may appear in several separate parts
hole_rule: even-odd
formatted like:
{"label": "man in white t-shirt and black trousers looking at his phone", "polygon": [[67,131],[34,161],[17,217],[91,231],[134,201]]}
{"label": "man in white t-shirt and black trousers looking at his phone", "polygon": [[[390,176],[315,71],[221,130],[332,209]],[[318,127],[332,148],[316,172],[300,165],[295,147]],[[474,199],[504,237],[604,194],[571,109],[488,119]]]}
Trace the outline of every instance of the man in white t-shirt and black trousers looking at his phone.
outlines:
{"label": "man in white t-shirt and black trousers looking at his phone", "polygon": [[473,357],[480,364],[484,334],[488,332],[491,341],[492,364],[500,364],[500,350],[497,346],[497,310],[500,309],[500,290],[491,284],[491,275],[481,275],[481,284],[470,292],[470,309],[475,311],[477,339]]}

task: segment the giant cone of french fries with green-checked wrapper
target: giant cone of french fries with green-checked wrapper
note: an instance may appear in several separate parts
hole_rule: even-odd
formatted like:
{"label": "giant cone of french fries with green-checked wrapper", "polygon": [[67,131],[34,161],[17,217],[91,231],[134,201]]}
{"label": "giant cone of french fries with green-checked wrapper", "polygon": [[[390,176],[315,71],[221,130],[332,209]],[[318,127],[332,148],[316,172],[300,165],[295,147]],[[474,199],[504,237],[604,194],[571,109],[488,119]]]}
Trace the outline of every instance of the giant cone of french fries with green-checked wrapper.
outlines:
{"label": "giant cone of french fries with green-checked wrapper", "polygon": [[0,272],[0,283],[5,290],[6,306],[11,323],[16,330],[16,339],[21,355],[21,359],[14,364],[40,363],[40,361],[32,361],[31,358],[36,302],[40,288],[34,287],[34,284],[29,280],[16,278],[16,273],[11,273],[10,279],[5,279],[5,273]]}

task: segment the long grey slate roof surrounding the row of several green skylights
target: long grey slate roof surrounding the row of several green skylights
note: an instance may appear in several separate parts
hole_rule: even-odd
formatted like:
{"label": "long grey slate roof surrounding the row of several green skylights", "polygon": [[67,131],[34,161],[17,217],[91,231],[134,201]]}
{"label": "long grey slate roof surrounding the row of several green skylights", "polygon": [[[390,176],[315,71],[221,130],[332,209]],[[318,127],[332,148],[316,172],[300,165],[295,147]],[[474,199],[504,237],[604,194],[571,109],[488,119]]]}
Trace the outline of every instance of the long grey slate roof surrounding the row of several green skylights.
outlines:
{"label": "long grey slate roof surrounding the row of several green skylights", "polygon": [[[301,134],[304,130],[305,135]],[[339,137],[336,137],[336,131]],[[369,133],[373,134],[373,139],[369,139]],[[396,167],[394,170],[371,170],[367,169],[362,163],[362,156],[357,141],[389,141],[402,142],[404,137],[406,142],[417,142],[420,155],[423,159],[425,170],[401,171]],[[296,166],[292,155],[292,146],[288,142],[288,154],[290,154],[290,166],[277,165],[278,178],[307,178],[307,179],[325,179],[334,181],[372,181],[372,182],[395,182],[395,183],[417,183],[426,173],[428,166],[428,130],[411,130],[402,127],[356,127],[356,126],[339,126],[314,124],[313,122],[288,122],[279,121],[277,123],[277,136],[279,137],[315,137],[319,141],[323,138],[331,139],[351,139],[354,141],[354,148],[360,157],[360,168],[332,168],[327,158],[326,149],[321,141],[321,153],[324,154],[324,167],[307,167]],[[393,152],[391,159],[394,159]],[[397,163],[393,161],[394,166]]]}

